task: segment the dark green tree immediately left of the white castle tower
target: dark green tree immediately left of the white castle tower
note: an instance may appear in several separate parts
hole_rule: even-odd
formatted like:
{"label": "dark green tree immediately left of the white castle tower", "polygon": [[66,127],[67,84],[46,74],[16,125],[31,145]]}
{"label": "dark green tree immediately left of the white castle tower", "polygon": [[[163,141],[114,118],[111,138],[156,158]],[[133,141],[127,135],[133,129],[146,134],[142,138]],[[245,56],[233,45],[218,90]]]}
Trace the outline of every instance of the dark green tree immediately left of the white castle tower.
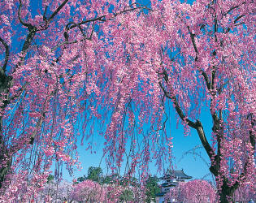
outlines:
{"label": "dark green tree immediately left of the white castle tower", "polygon": [[145,202],[155,201],[155,194],[160,192],[157,176],[149,176],[145,183]]}

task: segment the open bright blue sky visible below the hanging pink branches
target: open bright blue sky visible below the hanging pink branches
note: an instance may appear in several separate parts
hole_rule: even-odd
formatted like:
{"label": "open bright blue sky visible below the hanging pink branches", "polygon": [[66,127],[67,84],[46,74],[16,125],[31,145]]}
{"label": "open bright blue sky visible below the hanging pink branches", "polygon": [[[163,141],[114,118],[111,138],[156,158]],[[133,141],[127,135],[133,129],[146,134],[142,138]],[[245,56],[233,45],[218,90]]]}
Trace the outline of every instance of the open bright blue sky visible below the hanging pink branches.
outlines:
{"label": "open bright blue sky visible below the hanging pink branches", "polygon": [[[171,136],[173,136],[173,158],[172,160],[172,166],[176,170],[183,169],[184,172],[187,175],[193,176],[193,179],[202,179],[205,175],[205,179],[211,179],[209,168],[206,165],[206,162],[209,163],[209,158],[207,158],[206,152],[203,149],[196,149],[196,152],[199,153],[206,162],[202,161],[202,158],[199,158],[197,155],[193,155],[191,153],[187,153],[190,149],[195,149],[196,147],[201,147],[201,142],[199,140],[199,137],[197,136],[197,132],[195,130],[191,130],[191,134],[189,136],[184,136],[184,130],[183,126],[179,124],[178,128],[176,128],[176,118],[175,118],[175,110],[171,107],[171,117],[167,121],[167,133],[171,133]],[[201,121],[204,126],[204,129],[206,131],[206,136],[210,140],[210,129],[212,127],[211,118],[210,118],[210,112],[209,110],[202,110],[202,116]],[[97,132],[97,127],[95,127],[95,131]],[[94,145],[93,147],[93,153],[91,153],[90,150],[85,150],[86,144],[78,147],[78,152],[80,156],[80,162],[82,166],[81,171],[75,171],[74,177],[80,177],[83,175],[87,175],[87,170],[89,166],[99,166],[99,163],[102,159],[102,148],[104,143],[104,138],[93,135],[94,140],[97,140],[97,145]],[[94,153],[95,151],[95,153]],[[100,165],[103,169],[104,174],[106,174],[106,166],[104,159],[102,159],[102,164]],[[165,165],[167,166],[167,164]],[[63,171],[64,173],[64,179],[72,180],[73,177],[70,177],[67,175],[67,172]],[[157,174],[157,168],[154,166],[154,164],[150,164],[150,173],[152,175],[158,175],[161,176],[163,173]]]}

